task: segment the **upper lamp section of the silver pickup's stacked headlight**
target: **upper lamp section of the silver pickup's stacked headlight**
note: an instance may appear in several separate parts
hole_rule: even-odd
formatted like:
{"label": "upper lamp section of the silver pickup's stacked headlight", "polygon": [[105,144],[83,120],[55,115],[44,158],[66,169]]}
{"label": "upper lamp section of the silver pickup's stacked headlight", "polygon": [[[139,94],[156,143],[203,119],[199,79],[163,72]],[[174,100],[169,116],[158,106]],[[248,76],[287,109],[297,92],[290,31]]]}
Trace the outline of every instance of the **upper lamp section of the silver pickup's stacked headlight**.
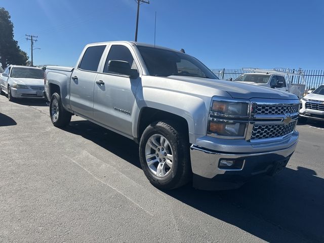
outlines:
{"label": "upper lamp section of the silver pickup's stacked headlight", "polygon": [[248,117],[248,102],[231,102],[214,100],[212,112],[219,116]]}

